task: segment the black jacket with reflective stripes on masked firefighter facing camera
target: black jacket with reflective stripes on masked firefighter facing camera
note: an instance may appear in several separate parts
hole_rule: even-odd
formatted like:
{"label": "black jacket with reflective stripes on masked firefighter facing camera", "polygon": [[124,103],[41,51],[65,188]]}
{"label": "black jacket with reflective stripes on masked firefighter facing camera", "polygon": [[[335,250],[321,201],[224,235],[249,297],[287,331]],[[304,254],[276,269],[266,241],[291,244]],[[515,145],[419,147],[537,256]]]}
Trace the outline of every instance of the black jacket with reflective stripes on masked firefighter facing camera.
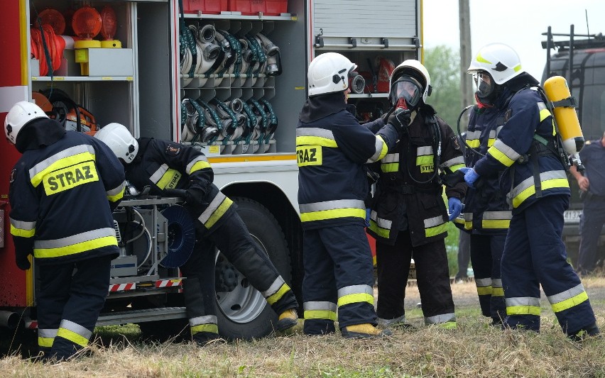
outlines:
{"label": "black jacket with reflective stripes on masked firefighter facing camera", "polygon": [[[436,122],[442,155],[435,167],[438,142],[430,122]],[[422,245],[447,235],[447,211],[442,198],[439,171],[464,167],[462,148],[451,128],[434,115],[430,106],[413,113],[413,121],[396,145],[380,162],[380,178],[372,200],[368,233],[385,243],[395,243],[399,230],[410,230],[413,245]],[[435,171],[437,169],[437,171]],[[448,197],[461,199],[466,184],[447,188]]]}

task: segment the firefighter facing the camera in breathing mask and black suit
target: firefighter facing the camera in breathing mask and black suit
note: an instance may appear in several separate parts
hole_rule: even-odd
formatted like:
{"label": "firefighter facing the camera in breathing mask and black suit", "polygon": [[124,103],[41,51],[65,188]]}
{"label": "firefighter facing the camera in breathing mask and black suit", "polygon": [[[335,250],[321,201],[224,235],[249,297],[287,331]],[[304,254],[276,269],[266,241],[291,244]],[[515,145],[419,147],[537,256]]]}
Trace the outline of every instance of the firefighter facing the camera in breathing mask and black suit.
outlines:
{"label": "firefighter facing the camera in breathing mask and black suit", "polygon": [[[413,257],[425,324],[455,328],[445,251],[448,215],[438,171],[454,174],[464,167],[462,148],[453,130],[426,104],[430,75],[418,60],[398,65],[390,88],[393,109],[408,109],[412,121],[376,169],[380,178],[368,232],[376,238],[378,321],[405,322],[403,301]],[[462,210],[466,187],[458,182],[447,188],[449,220]]]}

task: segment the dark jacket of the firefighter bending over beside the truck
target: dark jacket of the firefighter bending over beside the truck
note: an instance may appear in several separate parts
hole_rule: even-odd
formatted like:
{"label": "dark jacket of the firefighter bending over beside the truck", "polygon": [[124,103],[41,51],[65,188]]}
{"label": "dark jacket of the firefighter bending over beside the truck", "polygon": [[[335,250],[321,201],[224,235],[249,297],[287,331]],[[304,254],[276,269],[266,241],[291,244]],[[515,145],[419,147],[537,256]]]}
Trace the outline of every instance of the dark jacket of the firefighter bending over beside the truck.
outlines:
{"label": "dark jacket of the firefighter bending over beside the truck", "polygon": [[170,196],[170,189],[197,194],[202,200],[187,203],[185,208],[207,233],[214,232],[236,209],[233,201],[212,183],[214,172],[207,157],[180,143],[138,138],[138,152],[126,165],[126,179],[139,190],[149,186],[149,194],[156,196]]}

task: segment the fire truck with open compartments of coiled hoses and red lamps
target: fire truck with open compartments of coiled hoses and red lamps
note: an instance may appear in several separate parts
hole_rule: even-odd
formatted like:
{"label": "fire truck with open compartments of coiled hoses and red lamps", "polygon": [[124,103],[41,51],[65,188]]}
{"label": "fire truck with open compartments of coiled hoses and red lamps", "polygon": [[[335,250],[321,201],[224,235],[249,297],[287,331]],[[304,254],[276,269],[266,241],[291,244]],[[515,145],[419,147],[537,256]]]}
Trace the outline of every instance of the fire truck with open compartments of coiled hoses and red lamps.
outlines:
{"label": "fire truck with open compartments of coiled hoses and red lamps", "polygon": [[[16,101],[36,101],[69,130],[92,134],[117,122],[135,137],[200,148],[214,183],[299,299],[295,127],[309,62],[329,51],[356,62],[349,103],[369,120],[387,109],[390,70],[423,59],[420,0],[11,0],[0,9],[0,121]],[[4,330],[37,326],[36,266],[16,267],[9,235],[9,174],[18,158],[2,138]],[[174,215],[179,203],[133,193],[116,209],[121,253],[97,326],[138,323],[148,335],[186,327],[187,277],[165,263],[190,245]],[[271,333],[276,314],[246,277],[218,250],[208,264],[221,335]]]}

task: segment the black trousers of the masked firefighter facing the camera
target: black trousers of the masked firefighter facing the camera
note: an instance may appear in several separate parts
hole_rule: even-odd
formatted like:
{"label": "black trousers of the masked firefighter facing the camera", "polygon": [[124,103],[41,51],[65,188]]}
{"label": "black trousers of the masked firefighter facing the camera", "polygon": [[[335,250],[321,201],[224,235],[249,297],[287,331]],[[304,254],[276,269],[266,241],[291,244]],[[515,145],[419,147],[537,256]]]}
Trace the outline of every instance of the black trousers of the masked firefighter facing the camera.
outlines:
{"label": "black trousers of the masked firefighter facing the camera", "polygon": [[393,319],[405,315],[405,287],[412,257],[425,324],[454,322],[456,318],[445,240],[412,247],[408,230],[399,231],[395,245],[376,240],[378,318]]}

